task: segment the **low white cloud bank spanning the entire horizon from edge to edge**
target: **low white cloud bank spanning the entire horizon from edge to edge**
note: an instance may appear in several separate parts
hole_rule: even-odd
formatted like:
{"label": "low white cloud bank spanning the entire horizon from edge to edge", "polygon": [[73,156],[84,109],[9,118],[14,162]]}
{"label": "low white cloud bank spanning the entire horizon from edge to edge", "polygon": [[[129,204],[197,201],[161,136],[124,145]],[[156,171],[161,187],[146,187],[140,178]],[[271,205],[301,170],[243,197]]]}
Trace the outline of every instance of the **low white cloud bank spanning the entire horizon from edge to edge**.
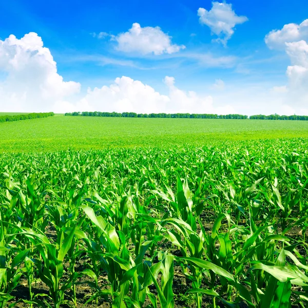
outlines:
{"label": "low white cloud bank spanning the entire horizon from edge to edge", "polygon": [[[289,82],[268,90],[264,85],[255,89],[234,87],[230,81],[225,87],[217,79],[215,84],[208,85],[213,95],[201,95],[181,89],[174,77],[165,76],[162,83],[166,91],[160,93],[150,85],[122,76],[111,84],[88,88],[82,94],[80,83],[64,81],[40,36],[33,32],[20,39],[10,35],[0,40],[0,110],[308,113],[308,44],[304,40],[286,41],[284,46],[291,63],[286,68]],[[198,86],[202,81],[195,82]]]}

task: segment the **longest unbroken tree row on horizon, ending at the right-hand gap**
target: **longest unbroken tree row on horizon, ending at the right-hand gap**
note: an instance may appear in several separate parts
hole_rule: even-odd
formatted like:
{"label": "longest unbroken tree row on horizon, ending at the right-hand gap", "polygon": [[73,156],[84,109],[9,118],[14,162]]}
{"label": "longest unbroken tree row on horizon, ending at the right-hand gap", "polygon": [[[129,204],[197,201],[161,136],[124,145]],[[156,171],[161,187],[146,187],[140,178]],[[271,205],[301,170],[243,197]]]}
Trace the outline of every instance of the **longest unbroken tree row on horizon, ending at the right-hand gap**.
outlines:
{"label": "longest unbroken tree row on horizon, ending at the right-hand gap", "polygon": [[65,115],[80,115],[82,117],[121,117],[121,118],[190,118],[190,119],[247,119],[247,115],[226,114],[218,115],[211,113],[136,113],[136,112],[72,112]]}

